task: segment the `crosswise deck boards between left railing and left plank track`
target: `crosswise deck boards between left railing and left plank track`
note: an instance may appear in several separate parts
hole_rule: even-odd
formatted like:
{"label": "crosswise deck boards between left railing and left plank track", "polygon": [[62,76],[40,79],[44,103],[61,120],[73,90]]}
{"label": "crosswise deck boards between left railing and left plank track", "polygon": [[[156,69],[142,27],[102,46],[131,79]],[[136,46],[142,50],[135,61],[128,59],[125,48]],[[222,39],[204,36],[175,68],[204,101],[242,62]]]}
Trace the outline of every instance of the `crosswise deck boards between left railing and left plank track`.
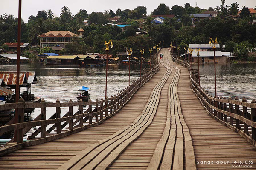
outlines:
{"label": "crosswise deck boards between left railing and left plank track", "polygon": [[131,124],[143,111],[150,96],[148,91],[153,90],[164,73],[165,71],[159,71],[155,74],[151,80],[137,91],[134,97],[118,114],[101,125],[52,142],[27,147],[2,156],[0,157],[0,170],[17,169],[17,167],[23,167],[26,170],[38,169],[38,167],[49,170],[57,169],[90,145],[107,138],[126,125]]}

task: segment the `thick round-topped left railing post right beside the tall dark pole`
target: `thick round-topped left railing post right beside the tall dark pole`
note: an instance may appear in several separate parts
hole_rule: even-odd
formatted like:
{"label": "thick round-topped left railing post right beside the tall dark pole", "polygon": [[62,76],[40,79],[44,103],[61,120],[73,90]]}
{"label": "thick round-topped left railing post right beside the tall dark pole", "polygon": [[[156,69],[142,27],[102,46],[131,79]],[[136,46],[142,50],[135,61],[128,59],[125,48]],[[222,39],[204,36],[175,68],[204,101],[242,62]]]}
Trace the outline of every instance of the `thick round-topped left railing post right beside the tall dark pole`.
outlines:
{"label": "thick round-topped left railing post right beside the tall dark pole", "polygon": [[[18,102],[25,104],[25,100],[22,99],[22,98],[20,98]],[[18,118],[17,123],[24,122],[24,108],[16,109],[15,114],[17,114],[17,118]],[[15,132],[14,132],[14,142],[17,142],[17,144],[23,142],[23,128],[15,130]]]}

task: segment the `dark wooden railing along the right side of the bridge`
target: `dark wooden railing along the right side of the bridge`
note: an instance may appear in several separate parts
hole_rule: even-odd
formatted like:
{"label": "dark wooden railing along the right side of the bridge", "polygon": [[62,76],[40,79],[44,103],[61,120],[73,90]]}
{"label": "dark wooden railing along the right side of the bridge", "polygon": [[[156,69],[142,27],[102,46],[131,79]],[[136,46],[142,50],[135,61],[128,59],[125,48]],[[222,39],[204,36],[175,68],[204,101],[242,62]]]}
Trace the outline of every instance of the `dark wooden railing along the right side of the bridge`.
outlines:
{"label": "dark wooden railing along the right side of the bridge", "polygon": [[[172,60],[190,71],[188,62],[173,56]],[[256,102],[254,99],[251,103],[248,103],[245,98],[239,101],[237,97],[234,100],[231,97],[229,99],[218,96],[212,97],[204,88],[199,86],[198,81],[191,72],[190,83],[192,90],[210,116],[239,133],[256,147]]]}

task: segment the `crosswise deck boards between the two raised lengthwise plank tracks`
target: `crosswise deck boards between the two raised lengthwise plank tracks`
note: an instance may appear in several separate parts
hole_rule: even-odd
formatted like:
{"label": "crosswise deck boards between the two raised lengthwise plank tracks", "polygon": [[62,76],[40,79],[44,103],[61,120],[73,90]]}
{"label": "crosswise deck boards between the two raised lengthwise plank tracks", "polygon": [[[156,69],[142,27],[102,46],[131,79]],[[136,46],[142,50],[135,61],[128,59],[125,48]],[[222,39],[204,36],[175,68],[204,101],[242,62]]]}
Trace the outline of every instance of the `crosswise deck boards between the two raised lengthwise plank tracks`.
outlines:
{"label": "crosswise deck boards between the two raised lengthwise plank tracks", "polygon": [[[167,54],[167,53],[166,53]],[[160,65],[160,70],[166,70]],[[155,148],[163,135],[166,125],[168,108],[168,88],[175,71],[172,71],[160,94],[160,101],[153,122],[142,135],[131,143],[127,149],[114,161],[108,169],[145,170],[154,154]]]}

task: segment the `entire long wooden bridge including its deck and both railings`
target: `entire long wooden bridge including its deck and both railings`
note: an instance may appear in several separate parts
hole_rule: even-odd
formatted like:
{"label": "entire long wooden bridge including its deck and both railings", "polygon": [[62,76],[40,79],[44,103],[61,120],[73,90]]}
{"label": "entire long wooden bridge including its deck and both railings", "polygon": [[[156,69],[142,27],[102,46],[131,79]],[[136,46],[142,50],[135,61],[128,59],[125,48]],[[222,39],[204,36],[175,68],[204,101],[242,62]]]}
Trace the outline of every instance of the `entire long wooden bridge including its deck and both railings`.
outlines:
{"label": "entire long wooden bridge including its deck and both railings", "polygon": [[[256,169],[255,100],[213,98],[191,78],[187,62],[167,48],[160,53],[160,65],[108,99],[0,105],[20,115],[20,123],[0,127],[0,134],[17,134],[17,143],[0,149],[0,170]],[[48,107],[56,113],[45,120]],[[61,107],[69,107],[62,118]],[[41,114],[23,122],[24,108]]]}

